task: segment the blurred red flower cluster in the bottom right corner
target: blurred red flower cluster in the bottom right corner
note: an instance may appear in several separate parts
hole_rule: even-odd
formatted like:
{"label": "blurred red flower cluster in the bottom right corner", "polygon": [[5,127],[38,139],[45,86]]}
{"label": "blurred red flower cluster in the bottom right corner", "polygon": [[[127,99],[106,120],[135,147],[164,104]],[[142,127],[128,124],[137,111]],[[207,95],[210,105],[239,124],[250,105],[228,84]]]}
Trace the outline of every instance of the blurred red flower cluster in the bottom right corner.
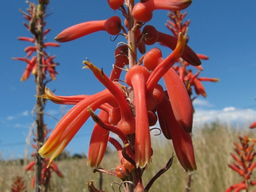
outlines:
{"label": "blurred red flower cluster in the bottom right corner", "polygon": [[[251,179],[252,171],[256,167],[256,162],[253,163],[256,156],[253,147],[256,141],[250,139],[248,136],[239,137],[239,140],[240,145],[234,143],[237,156],[231,153],[231,156],[236,162],[233,162],[233,164],[229,164],[228,166],[240,174],[240,176],[243,177],[243,181],[230,186],[225,192],[231,192],[233,190],[239,192],[244,189],[248,191],[250,186],[256,185],[256,180]],[[251,145],[249,145],[250,141],[253,141]]]}

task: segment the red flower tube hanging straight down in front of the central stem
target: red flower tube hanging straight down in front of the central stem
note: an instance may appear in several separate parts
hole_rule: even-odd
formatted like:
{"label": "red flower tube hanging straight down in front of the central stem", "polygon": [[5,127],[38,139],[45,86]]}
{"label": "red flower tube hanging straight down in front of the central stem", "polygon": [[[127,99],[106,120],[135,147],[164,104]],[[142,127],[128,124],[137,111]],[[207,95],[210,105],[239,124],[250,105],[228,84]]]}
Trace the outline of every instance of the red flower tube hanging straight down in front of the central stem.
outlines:
{"label": "red flower tube hanging straight down in front of the central stem", "polygon": [[135,99],[135,162],[136,167],[145,167],[150,163],[151,140],[146,106],[146,81],[150,73],[141,65],[132,66],[126,76],[126,83],[133,87]]}

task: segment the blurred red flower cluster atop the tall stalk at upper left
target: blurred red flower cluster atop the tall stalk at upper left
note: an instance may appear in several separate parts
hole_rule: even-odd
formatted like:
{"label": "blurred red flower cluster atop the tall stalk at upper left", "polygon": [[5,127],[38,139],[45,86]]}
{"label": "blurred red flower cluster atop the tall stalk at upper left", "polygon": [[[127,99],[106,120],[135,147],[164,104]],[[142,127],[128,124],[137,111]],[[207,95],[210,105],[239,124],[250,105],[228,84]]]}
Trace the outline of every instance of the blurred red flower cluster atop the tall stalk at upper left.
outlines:
{"label": "blurred red flower cluster atop the tall stalk at upper left", "polygon": [[[36,32],[38,30],[40,30],[41,26],[40,26],[40,22],[38,20],[38,15],[39,14],[43,14],[41,12],[41,5],[39,4],[38,6],[36,6],[36,4],[29,2],[30,8],[27,9],[28,13],[25,13],[23,11],[22,14],[24,16],[25,19],[27,19],[27,21],[29,22],[28,24],[24,22],[25,27],[27,28],[27,30],[31,31],[34,36],[32,38],[30,37],[18,37],[18,40],[21,41],[29,41],[31,43],[36,43],[37,42],[37,37],[36,37]],[[46,22],[43,23],[43,27],[46,25]],[[50,31],[50,28],[44,30],[43,32],[43,36],[45,36],[46,34],[48,34]],[[24,58],[12,58],[14,60],[19,60],[19,61],[25,61],[27,63],[27,68],[25,69],[22,77],[21,77],[21,81],[25,81],[29,78],[31,72],[32,74],[37,78],[37,65],[38,65],[38,58],[37,56],[32,56],[33,53],[37,53],[37,44],[35,46],[27,46],[24,49],[24,52],[27,53],[27,56]],[[47,42],[43,44],[43,48],[47,48],[47,47],[59,47],[58,43],[55,42]],[[57,74],[57,72],[55,71],[55,66],[58,65],[58,63],[55,63],[53,61],[53,59],[55,58],[54,56],[49,56],[49,54],[47,54],[45,51],[43,51],[42,53],[42,65],[43,65],[43,74],[44,74],[44,79],[46,78],[47,73],[49,72],[50,78],[52,80],[55,80],[56,77],[55,75]],[[30,56],[32,56],[31,59]]]}

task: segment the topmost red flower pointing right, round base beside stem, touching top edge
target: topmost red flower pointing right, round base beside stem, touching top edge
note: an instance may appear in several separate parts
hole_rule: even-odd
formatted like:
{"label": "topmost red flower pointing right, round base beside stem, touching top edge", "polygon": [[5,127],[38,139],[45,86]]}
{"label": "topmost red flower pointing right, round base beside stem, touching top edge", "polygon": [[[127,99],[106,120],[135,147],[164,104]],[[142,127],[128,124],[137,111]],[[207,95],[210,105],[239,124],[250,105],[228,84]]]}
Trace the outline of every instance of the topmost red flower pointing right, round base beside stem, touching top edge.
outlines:
{"label": "topmost red flower pointing right, round base beside stem, touching top edge", "polygon": [[132,15],[138,21],[148,22],[152,19],[152,12],[156,9],[182,10],[188,7],[192,0],[148,0],[137,3],[132,10]]}

